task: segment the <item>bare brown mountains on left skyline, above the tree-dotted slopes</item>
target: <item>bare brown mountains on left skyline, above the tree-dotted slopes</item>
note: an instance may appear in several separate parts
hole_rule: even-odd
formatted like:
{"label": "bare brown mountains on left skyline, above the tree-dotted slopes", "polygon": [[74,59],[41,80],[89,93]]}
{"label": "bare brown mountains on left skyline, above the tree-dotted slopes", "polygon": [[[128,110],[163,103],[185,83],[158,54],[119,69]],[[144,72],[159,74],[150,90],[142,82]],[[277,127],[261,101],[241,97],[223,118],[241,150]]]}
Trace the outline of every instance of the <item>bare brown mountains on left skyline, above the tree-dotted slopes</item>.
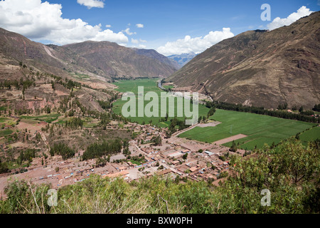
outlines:
{"label": "bare brown mountains on left skyline, above the tree-dotted slopes", "polygon": [[139,50],[107,41],[65,46],[43,45],[0,28],[0,58],[20,61],[56,75],[82,73],[102,78],[168,77],[178,64],[154,50]]}

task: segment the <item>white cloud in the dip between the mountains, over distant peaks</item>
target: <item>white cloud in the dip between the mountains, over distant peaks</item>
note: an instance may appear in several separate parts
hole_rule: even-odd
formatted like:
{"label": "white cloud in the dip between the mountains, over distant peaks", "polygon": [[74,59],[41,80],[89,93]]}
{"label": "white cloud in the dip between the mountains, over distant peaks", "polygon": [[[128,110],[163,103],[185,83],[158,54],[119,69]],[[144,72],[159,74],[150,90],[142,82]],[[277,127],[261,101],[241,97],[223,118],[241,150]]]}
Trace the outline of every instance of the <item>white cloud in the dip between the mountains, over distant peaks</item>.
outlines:
{"label": "white cloud in the dip between the mountains, over distant peaks", "polygon": [[201,53],[207,48],[210,48],[215,43],[223,41],[225,38],[231,38],[235,36],[230,28],[223,28],[223,31],[210,31],[208,35],[202,37],[191,38],[186,36],[183,39],[178,39],[174,42],[168,42],[164,46],[160,46],[156,49],[164,56],[180,55],[183,53]]}

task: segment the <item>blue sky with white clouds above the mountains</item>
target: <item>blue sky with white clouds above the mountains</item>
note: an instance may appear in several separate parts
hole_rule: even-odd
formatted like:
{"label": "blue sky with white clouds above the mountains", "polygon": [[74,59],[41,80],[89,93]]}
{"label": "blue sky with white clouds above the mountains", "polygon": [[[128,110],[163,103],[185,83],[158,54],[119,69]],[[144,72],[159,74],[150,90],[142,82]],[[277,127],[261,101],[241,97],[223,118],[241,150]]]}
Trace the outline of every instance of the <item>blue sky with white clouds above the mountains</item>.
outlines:
{"label": "blue sky with white clouds above the mountains", "polygon": [[313,11],[320,0],[0,0],[0,27],[45,44],[111,41],[170,56]]}

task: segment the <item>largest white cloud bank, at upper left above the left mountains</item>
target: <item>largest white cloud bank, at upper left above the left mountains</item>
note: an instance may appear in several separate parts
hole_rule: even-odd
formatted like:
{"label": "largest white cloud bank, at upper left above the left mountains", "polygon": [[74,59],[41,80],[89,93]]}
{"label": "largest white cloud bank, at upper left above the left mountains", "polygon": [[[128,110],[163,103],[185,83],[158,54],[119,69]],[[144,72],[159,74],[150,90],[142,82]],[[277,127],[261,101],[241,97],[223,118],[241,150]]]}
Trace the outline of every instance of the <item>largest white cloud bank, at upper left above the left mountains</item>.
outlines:
{"label": "largest white cloud bank, at upper left above the left mountains", "polygon": [[63,19],[62,6],[41,0],[0,1],[0,27],[20,33],[34,41],[56,44],[77,43],[87,40],[128,43],[124,33],[102,25],[91,26],[82,19]]}

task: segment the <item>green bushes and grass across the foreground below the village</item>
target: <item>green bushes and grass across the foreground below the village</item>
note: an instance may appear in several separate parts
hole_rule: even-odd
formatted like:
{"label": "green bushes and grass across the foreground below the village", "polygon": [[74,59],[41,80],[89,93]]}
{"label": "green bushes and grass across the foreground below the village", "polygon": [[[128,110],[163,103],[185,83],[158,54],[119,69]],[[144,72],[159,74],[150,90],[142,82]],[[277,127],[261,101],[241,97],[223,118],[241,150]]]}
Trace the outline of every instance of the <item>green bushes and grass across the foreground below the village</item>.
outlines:
{"label": "green bushes and grass across the foreground below the village", "polygon": [[[0,213],[319,213],[319,148],[319,142],[304,147],[293,138],[277,151],[265,147],[255,156],[232,156],[233,169],[221,173],[218,187],[180,178],[151,177],[127,183],[121,178],[110,181],[92,176],[61,187],[56,207],[42,203],[48,200],[49,185],[14,181],[6,187],[8,199],[0,202]],[[261,204],[265,189],[271,192],[270,207]]]}

